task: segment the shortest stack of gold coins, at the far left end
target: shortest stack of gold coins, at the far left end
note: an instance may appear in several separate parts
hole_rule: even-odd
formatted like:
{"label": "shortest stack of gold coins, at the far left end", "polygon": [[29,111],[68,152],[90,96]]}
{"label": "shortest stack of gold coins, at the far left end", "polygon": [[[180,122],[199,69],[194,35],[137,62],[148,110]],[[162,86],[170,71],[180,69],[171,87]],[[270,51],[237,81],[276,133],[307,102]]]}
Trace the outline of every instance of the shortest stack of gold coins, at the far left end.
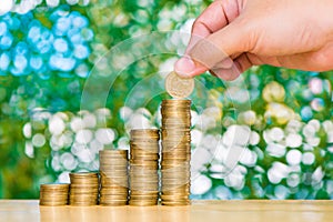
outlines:
{"label": "shortest stack of gold coins, at the far left end", "polygon": [[40,205],[67,205],[69,184],[53,183],[40,185]]}

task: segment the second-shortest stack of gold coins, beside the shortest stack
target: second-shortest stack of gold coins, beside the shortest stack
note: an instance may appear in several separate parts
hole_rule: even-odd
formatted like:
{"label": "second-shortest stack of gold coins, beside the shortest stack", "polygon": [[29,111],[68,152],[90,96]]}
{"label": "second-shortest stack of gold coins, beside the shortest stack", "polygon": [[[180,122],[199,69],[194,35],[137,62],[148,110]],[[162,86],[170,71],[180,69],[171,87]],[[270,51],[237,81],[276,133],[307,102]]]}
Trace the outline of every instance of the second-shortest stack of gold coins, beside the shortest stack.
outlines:
{"label": "second-shortest stack of gold coins, beside the shortest stack", "polygon": [[70,173],[70,205],[97,205],[99,174],[93,172]]}

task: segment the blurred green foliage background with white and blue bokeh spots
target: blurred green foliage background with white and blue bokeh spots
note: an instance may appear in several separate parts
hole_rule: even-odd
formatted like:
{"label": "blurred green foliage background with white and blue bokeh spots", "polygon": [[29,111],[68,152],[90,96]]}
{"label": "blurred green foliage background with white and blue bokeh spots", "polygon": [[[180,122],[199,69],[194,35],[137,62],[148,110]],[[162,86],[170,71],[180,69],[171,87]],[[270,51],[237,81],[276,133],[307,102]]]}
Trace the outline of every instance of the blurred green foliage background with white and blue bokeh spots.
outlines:
{"label": "blurred green foliage background with white and blue bokeh spots", "polygon": [[[67,181],[72,170],[97,170],[98,151],[127,148],[127,130],[138,119],[159,127],[158,105],[165,93],[144,108],[129,107],[127,99],[162,65],[172,69],[174,54],[133,62],[115,79],[108,109],[80,111],[89,71],[125,39],[189,31],[210,1],[38,2],[0,17],[0,198],[38,198],[41,182]],[[110,61],[105,67],[113,69]],[[263,65],[243,79],[245,89],[209,74],[196,78],[204,87],[191,98],[193,114],[206,125],[193,123],[202,138],[193,148],[210,147],[220,138],[224,142],[216,150],[228,149],[234,128],[251,137],[250,159],[242,159],[226,176],[221,176],[223,158],[214,159],[214,153],[192,163],[200,164],[201,174],[193,182],[192,198],[333,199],[333,73]],[[133,101],[161,84],[162,75]],[[240,93],[239,100],[230,99],[232,90]],[[249,101],[242,100],[243,93],[249,93]],[[238,104],[246,102],[251,109],[238,113]],[[220,125],[210,125],[212,121]]]}

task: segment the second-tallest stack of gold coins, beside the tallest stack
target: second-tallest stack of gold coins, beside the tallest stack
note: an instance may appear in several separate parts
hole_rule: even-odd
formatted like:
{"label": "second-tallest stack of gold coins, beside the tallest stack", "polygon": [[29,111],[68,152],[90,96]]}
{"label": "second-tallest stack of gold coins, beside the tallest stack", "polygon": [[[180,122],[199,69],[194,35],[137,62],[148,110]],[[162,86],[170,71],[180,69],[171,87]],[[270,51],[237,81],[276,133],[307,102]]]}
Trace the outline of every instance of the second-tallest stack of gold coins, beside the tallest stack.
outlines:
{"label": "second-tallest stack of gold coins, beside the tallest stack", "polygon": [[157,205],[159,201],[159,140],[155,129],[131,131],[130,205]]}

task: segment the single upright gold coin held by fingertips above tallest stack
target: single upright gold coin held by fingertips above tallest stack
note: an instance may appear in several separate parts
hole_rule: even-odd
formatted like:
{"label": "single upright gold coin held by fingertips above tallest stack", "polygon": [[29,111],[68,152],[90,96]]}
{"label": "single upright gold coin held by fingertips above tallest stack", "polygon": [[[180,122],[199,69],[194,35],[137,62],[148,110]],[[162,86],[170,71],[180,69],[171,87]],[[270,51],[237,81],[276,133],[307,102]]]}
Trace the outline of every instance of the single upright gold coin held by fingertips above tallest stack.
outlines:
{"label": "single upright gold coin held by fingertips above tallest stack", "polygon": [[176,99],[189,97],[194,89],[194,79],[180,78],[175,72],[170,72],[165,79],[167,92]]}

